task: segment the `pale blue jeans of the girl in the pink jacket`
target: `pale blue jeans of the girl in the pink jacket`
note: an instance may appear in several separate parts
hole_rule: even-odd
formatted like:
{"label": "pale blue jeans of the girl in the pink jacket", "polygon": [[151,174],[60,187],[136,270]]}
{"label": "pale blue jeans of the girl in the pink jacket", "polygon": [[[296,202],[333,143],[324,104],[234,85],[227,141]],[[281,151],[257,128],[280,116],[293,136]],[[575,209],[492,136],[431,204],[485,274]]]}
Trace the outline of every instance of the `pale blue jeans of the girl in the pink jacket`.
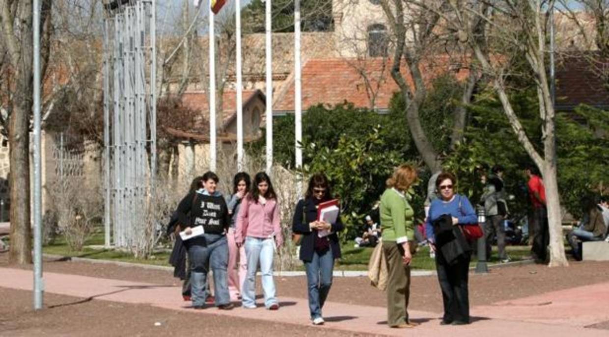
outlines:
{"label": "pale blue jeans of the girl in the pink jacket", "polygon": [[241,303],[246,308],[256,307],[256,270],[260,262],[262,273],[262,292],[264,306],[269,308],[277,303],[275,282],[273,282],[273,255],[275,243],[273,238],[245,238],[245,256],[247,256],[247,274],[241,290]]}

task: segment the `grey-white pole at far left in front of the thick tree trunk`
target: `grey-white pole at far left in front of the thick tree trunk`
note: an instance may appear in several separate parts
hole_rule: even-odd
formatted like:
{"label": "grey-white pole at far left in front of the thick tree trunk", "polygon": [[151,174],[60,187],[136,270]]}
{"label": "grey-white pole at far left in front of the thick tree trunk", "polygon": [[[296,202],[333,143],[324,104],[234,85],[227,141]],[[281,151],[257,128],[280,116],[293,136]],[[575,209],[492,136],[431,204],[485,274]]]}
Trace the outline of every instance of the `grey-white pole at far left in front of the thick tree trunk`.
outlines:
{"label": "grey-white pole at far left in front of the thick tree trunk", "polygon": [[42,309],[42,221],[40,160],[40,2],[33,1],[33,72],[34,72],[34,310]]}

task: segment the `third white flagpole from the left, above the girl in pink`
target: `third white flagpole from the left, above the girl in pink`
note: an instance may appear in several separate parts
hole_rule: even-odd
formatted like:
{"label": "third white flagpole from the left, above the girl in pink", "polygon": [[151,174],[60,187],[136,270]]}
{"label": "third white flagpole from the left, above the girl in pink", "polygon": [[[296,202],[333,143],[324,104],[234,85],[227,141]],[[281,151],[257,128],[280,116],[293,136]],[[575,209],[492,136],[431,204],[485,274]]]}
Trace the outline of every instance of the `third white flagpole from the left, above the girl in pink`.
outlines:
{"label": "third white flagpole from the left, above the girl in pink", "polygon": [[273,79],[271,55],[271,0],[266,0],[266,172],[273,166]]}

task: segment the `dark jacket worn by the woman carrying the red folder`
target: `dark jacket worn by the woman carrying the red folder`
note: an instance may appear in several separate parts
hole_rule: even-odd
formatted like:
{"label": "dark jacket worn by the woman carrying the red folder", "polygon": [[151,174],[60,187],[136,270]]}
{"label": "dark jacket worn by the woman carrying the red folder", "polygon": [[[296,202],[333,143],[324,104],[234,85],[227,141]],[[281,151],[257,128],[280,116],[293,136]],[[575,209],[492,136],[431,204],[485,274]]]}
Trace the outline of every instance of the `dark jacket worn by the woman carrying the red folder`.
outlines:
{"label": "dark jacket worn by the woman carrying the red folder", "polygon": [[[303,215],[305,218],[303,218]],[[315,236],[317,230],[311,231],[309,223],[317,220],[317,208],[315,203],[311,199],[301,199],[296,205],[294,212],[294,221],[292,222],[292,232],[294,234],[302,234],[303,238],[300,246],[300,260],[304,262],[310,262],[313,259],[313,253],[315,252]],[[340,257],[340,243],[337,232],[342,231],[345,226],[340,220],[340,214],[336,220],[336,223],[331,224],[332,234],[328,235],[330,243],[330,249],[334,259]]]}

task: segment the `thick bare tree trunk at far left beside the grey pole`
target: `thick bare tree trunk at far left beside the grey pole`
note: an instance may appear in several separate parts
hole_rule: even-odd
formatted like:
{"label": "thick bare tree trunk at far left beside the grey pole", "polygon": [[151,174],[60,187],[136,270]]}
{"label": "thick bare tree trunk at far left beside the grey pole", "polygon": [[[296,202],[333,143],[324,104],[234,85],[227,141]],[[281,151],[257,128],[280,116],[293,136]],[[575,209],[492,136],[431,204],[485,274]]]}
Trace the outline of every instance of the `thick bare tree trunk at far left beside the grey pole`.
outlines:
{"label": "thick bare tree trunk at far left beside the grey pole", "polygon": [[[41,36],[43,42],[51,33],[51,0],[42,1]],[[32,1],[0,1],[0,35],[9,54],[10,71],[14,86],[7,105],[10,144],[10,253],[12,263],[32,262],[32,240],[30,238],[30,177],[29,177],[29,130],[33,97],[33,32]],[[41,46],[42,69],[48,58],[48,46]]]}

